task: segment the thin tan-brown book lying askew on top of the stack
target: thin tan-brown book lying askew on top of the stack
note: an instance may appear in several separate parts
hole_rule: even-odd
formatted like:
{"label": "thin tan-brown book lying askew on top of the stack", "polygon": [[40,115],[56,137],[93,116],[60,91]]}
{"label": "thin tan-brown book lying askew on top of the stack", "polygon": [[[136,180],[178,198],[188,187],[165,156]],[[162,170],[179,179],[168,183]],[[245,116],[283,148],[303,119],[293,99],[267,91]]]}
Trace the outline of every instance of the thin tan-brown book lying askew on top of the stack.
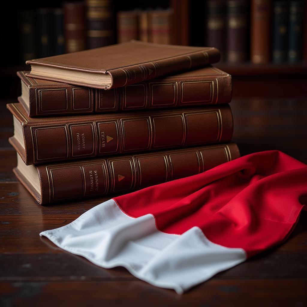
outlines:
{"label": "thin tan-brown book lying askew on top of the stack", "polygon": [[85,51],[26,61],[32,78],[86,87],[122,87],[218,62],[210,47],[160,45],[129,41]]}

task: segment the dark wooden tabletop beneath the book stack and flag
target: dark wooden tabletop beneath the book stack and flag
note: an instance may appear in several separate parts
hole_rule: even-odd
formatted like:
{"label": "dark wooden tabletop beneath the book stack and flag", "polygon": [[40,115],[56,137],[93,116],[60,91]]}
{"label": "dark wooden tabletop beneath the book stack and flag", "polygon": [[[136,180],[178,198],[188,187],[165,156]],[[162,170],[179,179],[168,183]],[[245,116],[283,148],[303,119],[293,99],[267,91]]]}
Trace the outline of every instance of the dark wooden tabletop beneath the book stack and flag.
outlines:
{"label": "dark wooden tabletop beneath the book stack and flag", "polygon": [[[12,101],[6,101],[12,102]],[[296,306],[307,305],[307,212],[286,243],[217,274],[183,295],[103,269],[39,237],[75,220],[96,199],[40,206],[12,173],[12,117],[0,104],[0,306]],[[278,149],[307,163],[305,99],[231,103],[241,154]]]}

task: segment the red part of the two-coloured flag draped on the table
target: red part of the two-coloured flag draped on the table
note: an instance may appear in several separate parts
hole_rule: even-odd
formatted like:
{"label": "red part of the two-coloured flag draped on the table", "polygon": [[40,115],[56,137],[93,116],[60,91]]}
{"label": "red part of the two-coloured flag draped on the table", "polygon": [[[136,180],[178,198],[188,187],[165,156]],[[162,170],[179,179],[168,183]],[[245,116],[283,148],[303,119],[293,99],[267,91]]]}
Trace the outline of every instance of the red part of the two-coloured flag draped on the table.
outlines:
{"label": "red part of the two-coloured flag draped on the table", "polygon": [[132,217],[153,214],[160,231],[198,226],[212,242],[252,256],[289,235],[306,196],[307,166],[274,150],[114,200]]}

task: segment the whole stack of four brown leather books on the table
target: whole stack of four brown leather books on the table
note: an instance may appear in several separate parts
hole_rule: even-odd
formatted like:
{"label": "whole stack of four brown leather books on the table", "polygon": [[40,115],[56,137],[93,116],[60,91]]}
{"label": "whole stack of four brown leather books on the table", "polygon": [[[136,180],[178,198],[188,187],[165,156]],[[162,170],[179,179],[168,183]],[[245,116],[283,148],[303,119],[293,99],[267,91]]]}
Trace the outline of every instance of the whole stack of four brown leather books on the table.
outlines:
{"label": "whole stack of four brown leather books on the table", "polygon": [[130,41],[27,61],[14,173],[40,204],[125,193],[239,157],[216,48]]}

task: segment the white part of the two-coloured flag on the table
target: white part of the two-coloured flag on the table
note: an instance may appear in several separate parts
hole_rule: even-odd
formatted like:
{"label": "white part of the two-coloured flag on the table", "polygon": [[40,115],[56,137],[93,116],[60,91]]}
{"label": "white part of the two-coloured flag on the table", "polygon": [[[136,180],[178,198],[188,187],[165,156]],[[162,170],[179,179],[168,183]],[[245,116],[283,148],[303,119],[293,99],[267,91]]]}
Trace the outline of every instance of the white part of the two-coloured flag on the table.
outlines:
{"label": "white part of the two-coloured flag on the table", "polygon": [[123,266],[137,278],[177,293],[246,260],[243,249],[212,243],[198,227],[166,234],[157,230],[151,214],[132,218],[114,200],[40,235],[98,266]]}

